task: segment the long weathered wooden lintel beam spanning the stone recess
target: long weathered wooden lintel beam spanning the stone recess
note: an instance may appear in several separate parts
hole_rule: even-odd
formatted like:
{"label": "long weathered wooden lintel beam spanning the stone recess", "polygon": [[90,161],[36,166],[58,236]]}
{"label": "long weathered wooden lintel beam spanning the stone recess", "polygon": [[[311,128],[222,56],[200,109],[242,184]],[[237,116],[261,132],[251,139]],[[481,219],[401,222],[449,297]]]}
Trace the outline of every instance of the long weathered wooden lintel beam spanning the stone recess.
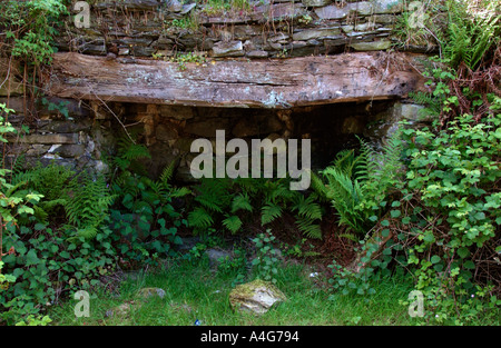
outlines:
{"label": "long weathered wooden lintel beam spanning the stone recess", "polygon": [[355,52],[179,64],[56,53],[46,92],[117,102],[286,109],[404,98],[421,90],[418,54]]}

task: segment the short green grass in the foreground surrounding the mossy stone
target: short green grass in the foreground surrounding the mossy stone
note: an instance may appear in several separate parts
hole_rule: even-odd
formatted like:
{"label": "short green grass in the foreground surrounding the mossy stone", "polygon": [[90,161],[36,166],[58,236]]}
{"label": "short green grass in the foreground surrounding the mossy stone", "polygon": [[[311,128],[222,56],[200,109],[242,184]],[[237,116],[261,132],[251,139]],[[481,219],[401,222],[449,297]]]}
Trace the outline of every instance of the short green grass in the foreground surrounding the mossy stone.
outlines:
{"label": "short green grass in the foreground surrounding the mossy stone", "polygon": [[[77,300],[67,301],[49,312],[52,325],[87,326],[193,326],[198,319],[204,326],[334,326],[334,325],[413,325],[418,319],[407,315],[399,304],[405,300],[412,285],[390,278],[374,286],[371,297],[343,296],[326,291],[317,278],[311,278],[308,266],[287,264],[276,275],[278,288],[287,301],[272,308],[263,316],[235,312],[228,294],[237,272],[222,274],[213,270],[208,261],[171,261],[164,271],[128,278],[116,295],[102,289],[90,294],[90,317],[76,318]],[[249,280],[249,279],[247,279]],[[138,299],[144,287],[158,287],[166,291],[164,298]],[[106,311],[130,302],[132,309],[126,317],[107,317]]]}

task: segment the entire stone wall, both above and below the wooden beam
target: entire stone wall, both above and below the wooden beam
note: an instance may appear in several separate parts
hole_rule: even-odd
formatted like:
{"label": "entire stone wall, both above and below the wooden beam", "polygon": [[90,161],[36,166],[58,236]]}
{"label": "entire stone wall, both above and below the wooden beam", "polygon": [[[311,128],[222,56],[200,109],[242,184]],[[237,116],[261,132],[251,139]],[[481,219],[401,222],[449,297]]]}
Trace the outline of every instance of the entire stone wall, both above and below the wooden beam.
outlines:
{"label": "entire stone wall, both above and below the wooden beam", "polygon": [[[68,19],[58,38],[62,51],[166,59],[177,52],[205,52],[214,59],[287,58],[334,54],[346,50],[386,50],[397,40],[392,28],[403,10],[396,0],[275,0],[249,2],[245,10],[218,12],[207,6],[157,0],[94,1],[91,26],[77,29]],[[429,47],[413,50],[429,51]],[[312,139],[313,166],[323,167],[343,149],[355,147],[355,135],[381,141],[401,119],[418,127],[429,122],[422,108],[405,100],[367,101],[276,109],[233,109],[168,105],[63,100],[67,116],[39,105],[26,113],[22,86],[0,102],[16,110],[9,121],[29,133],[11,138],[8,161],[23,156],[27,166],[51,161],[77,169],[108,170],[124,129],[148,147],[145,161],[156,176],[180,158],[178,179],[189,181],[190,143],[226,139]],[[9,99],[2,96],[9,95]],[[49,105],[61,100],[49,98]],[[22,133],[22,132],[21,132]]]}

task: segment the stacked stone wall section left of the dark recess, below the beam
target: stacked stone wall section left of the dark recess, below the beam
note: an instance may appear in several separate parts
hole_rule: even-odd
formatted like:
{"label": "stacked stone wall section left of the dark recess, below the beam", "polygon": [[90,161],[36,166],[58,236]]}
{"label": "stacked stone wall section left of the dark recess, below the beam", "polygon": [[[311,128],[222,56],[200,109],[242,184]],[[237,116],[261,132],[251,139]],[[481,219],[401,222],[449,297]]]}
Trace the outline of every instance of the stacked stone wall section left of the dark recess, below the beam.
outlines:
{"label": "stacked stone wall section left of the dark recess, below the beam", "polygon": [[114,149],[112,129],[106,129],[96,122],[90,110],[75,100],[49,99],[50,102],[66,103],[68,117],[49,107],[39,106],[37,117],[29,111],[21,97],[0,98],[0,103],[8,103],[14,112],[8,121],[18,130],[18,135],[8,137],[6,163],[18,162],[24,168],[38,162],[48,165],[52,161],[75,169],[87,168],[90,171],[107,171],[104,155]]}

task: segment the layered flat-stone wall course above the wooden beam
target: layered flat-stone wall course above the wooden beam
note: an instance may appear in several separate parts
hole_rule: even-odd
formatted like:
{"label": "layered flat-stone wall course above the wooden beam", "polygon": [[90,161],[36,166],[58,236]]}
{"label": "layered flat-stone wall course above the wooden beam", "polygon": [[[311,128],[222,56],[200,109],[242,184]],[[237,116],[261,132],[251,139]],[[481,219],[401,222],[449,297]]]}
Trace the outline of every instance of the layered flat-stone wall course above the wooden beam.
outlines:
{"label": "layered flat-stone wall course above the wooden beam", "polygon": [[[248,59],[386,50],[403,0],[248,0],[215,9],[176,0],[108,0],[91,7],[90,28],[68,20],[61,51],[106,56],[171,57],[199,52]],[[420,52],[433,46],[407,47]]]}

